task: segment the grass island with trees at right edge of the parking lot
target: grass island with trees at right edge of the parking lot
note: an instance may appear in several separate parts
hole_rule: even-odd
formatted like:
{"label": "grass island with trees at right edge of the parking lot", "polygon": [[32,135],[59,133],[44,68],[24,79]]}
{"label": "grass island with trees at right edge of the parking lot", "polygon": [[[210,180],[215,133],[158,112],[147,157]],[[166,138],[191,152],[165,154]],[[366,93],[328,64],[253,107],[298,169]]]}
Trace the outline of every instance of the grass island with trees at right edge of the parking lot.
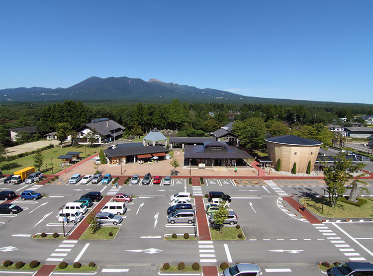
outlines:
{"label": "grass island with trees at right edge of the parking lot", "polygon": [[304,197],[300,199],[300,203],[307,203],[307,209],[311,212],[322,215],[325,217],[335,217],[335,218],[348,218],[348,217],[373,217],[373,200],[369,197],[365,197],[367,203],[361,207],[351,205],[342,201],[337,201],[335,207],[329,206],[329,201],[325,198],[323,214],[321,214],[322,208],[322,198],[315,197],[309,198]]}

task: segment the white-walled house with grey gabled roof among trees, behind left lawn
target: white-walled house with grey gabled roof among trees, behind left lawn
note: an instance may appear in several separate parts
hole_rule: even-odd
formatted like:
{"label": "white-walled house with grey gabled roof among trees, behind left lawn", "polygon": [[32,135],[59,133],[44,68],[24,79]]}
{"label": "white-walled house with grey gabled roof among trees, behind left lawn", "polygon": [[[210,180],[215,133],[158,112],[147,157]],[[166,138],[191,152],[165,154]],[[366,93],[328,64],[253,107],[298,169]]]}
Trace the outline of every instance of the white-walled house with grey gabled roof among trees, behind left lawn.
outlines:
{"label": "white-walled house with grey gabled roof among trees, behind left lawn", "polygon": [[123,135],[124,126],[108,118],[94,119],[84,127],[78,129],[77,140],[79,144],[90,144],[88,137],[95,131],[93,144],[104,144],[115,141]]}

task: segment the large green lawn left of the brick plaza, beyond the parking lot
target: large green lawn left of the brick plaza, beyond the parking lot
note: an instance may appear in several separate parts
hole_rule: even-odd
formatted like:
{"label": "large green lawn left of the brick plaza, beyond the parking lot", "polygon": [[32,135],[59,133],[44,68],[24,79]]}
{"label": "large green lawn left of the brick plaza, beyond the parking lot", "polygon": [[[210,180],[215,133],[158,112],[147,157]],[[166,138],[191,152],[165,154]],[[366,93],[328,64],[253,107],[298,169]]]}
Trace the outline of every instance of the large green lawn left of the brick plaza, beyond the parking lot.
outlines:
{"label": "large green lawn left of the brick plaza, beyond the parking lot", "polygon": [[[95,148],[90,148],[90,147],[84,147],[84,146],[79,146],[79,147],[54,147],[52,149],[47,149],[43,151],[43,166],[41,167],[41,172],[46,175],[51,175],[52,174],[52,163],[51,163],[51,158],[53,158],[53,172],[58,173],[63,170],[61,166],[58,164],[61,164],[62,161],[60,159],[57,159],[60,155],[66,155],[67,152],[69,151],[81,151],[83,153],[80,154],[81,157],[86,156],[86,150],[87,150],[87,157],[93,155],[94,153],[99,152],[101,148],[100,147],[95,147]],[[1,168],[3,174],[13,174],[15,171],[20,170],[22,168],[26,167],[33,167],[34,166],[34,157],[35,154],[31,154],[28,156],[24,156],[18,159],[15,159],[10,162],[3,162],[4,167]],[[48,168],[45,168],[45,165],[48,165]],[[93,165],[92,165],[93,166]],[[37,168],[35,168],[37,170]]]}

